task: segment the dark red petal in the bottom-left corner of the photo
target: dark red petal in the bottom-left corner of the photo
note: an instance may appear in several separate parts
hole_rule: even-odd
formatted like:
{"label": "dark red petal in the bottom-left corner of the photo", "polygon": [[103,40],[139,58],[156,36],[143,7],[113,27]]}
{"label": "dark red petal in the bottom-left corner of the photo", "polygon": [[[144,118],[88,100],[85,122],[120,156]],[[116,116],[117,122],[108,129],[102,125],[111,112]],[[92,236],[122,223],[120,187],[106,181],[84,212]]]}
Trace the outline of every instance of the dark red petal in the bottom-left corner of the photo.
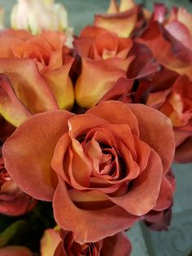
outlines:
{"label": "dark red petal in the bottom-left corner of the photo", "polygon": [[7,246],[0,248],[1,256],[33,256],[33,253],[23,246]]}

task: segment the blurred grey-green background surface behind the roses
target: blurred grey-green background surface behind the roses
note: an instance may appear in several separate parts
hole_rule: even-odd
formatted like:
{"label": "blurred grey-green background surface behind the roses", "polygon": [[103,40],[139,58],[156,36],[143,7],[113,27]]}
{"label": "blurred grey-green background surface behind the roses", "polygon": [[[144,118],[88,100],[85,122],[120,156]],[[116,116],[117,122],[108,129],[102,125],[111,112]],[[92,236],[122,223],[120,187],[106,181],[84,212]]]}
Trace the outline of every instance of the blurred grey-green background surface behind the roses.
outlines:
{"label": "blurred grey-green background surface behind the roses", "polygon": [[[6,10],[7,26],[11,7],[15,2],[16,0],[0,0],[0,6]],[[75,33],[79,33],[85,25],[92,24],[94,13],[107,10],[109,0],[58,0],[55,2],[63,2],[68,10],[69,25],[74,27]],[[142,3],[151,11],[153,9],[153,0],[136,2]],[[168,7],[182,6],[192,12],[192,1],[189,0],[157,2],[164,2]],[[133,243],[132,256],[192,256],[192,164],[173,165],[172,169],[177,178],[172,225],[168,232],[150,232],[137,223],[128,232]]]}

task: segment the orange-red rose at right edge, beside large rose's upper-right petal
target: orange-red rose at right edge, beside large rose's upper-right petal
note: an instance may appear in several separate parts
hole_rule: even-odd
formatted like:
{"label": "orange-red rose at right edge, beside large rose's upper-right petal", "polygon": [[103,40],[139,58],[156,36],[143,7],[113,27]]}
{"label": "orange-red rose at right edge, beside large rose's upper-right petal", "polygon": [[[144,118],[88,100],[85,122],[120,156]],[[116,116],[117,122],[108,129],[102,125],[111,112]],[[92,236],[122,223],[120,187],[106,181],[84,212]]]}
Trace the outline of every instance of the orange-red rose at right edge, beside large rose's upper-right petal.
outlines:
{"label": "orange-red rose at right edge, beside large rose's upper-right petal", "polygon": [[192,161],[192,82],[186,76],[178,76],[171,82],[159,75],[151,82],[151,92],[146,105],[158,109],[172,121],[176,140],[177,162]]}

